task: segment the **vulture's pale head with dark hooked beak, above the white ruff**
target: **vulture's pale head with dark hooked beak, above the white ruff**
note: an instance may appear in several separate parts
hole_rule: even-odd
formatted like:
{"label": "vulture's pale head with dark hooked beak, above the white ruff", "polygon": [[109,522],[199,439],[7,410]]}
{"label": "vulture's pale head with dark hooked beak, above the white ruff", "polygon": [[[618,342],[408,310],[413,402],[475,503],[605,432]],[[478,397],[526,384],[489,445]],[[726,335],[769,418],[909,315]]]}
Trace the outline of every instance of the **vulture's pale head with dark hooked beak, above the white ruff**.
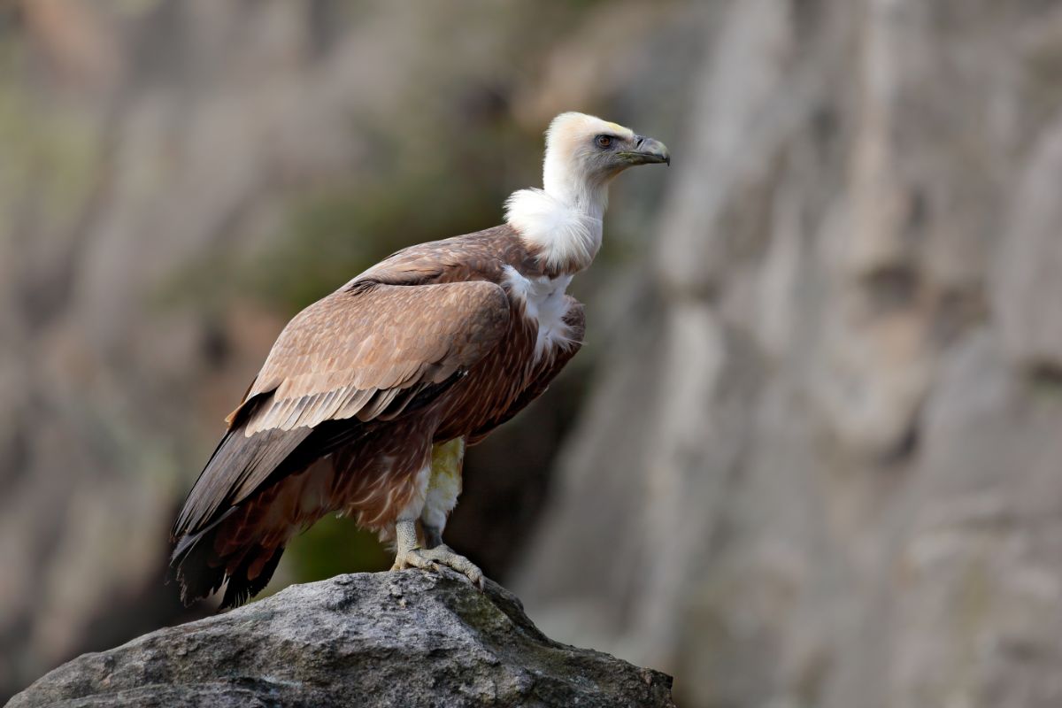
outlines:
{"label": "vulture's pale head with dark hooked beak, above the white ruff", "polygon": [[635,165],[671,163],[663,142],[586,114],[561,114],[546,131],[543,186],[556,197],[593,193]]}

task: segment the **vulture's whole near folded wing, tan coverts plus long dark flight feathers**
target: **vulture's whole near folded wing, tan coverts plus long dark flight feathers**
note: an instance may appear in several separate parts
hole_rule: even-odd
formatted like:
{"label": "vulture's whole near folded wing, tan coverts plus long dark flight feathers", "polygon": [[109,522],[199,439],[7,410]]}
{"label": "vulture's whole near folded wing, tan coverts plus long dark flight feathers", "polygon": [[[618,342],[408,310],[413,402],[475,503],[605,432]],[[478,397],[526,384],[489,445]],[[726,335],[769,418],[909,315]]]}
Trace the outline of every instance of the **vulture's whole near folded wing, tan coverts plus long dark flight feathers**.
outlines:
{"label": "vulture's whole near folded wing, tan coverts plus long dark flight feathers", "polygon": [[280,333],[229,416],[174,536],[254,494],[315,426],[396,415],[417,392],[479,361],[508,321],[504,291],[486,281],[355,282],[311,305]]}

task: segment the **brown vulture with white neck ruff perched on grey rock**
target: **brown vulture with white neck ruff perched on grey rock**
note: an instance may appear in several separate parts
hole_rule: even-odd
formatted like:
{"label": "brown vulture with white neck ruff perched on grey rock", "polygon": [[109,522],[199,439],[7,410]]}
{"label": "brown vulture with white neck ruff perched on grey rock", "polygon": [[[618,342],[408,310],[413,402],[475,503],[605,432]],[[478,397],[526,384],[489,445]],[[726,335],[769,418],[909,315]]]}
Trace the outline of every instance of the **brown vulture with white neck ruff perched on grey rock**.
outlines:
{"label": "brown vulture with white neck ruff perched on grey rock", "polygon": [[289,539],[328,514],[395,549],[392,570],[482,571],[443,542],[466,448],[546,391],[583,343],[566,293],[601,246],[610,183],[664,143],[581,113],[546,131],[543,187],[498,226],[399,251],[278,335],[173,525],[185,604],[269,583]]}

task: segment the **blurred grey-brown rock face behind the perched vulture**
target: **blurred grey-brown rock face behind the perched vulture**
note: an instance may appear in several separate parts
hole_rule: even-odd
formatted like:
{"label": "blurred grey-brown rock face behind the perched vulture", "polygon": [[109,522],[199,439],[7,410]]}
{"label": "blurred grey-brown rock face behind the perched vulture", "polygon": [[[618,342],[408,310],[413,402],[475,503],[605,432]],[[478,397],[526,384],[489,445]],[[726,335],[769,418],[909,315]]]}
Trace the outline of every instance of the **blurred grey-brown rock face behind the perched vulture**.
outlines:
{"label": "blurred grey-brown rock face behind the perched vulture", "polygon": [[[1062,705],[1062,5],[0,2],[0,701],[183,610],[282,325],[585,110],[587,344],[448,540],[683,706]],[[389,565],[327,520],[271,591]]]}

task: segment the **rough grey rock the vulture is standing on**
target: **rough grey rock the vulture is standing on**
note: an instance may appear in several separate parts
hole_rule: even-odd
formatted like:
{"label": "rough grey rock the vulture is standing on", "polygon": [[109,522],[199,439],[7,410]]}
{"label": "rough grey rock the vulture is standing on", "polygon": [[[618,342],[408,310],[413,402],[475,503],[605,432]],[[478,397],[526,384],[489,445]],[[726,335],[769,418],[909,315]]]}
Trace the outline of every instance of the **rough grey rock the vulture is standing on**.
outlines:
{"label": "rough grey rock the vulture is standing on", "polygon": [[28,706],[673,706],[671,678],[550,640],[504,588],[358,573],[85,654]]}

